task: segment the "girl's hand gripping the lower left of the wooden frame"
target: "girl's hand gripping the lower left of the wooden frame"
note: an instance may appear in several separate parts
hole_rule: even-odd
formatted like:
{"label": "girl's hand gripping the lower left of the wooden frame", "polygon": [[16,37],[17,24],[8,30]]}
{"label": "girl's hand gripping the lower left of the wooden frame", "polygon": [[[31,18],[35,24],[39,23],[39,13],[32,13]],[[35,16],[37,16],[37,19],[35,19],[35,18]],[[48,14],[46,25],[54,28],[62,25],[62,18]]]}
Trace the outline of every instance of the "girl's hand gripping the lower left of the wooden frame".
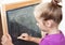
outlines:
{"label": "girl's hand gripping the lower left of the wooden frame", "polygon": [[1,44],[2,45],[13,45],[10,34],[2,35]]}

